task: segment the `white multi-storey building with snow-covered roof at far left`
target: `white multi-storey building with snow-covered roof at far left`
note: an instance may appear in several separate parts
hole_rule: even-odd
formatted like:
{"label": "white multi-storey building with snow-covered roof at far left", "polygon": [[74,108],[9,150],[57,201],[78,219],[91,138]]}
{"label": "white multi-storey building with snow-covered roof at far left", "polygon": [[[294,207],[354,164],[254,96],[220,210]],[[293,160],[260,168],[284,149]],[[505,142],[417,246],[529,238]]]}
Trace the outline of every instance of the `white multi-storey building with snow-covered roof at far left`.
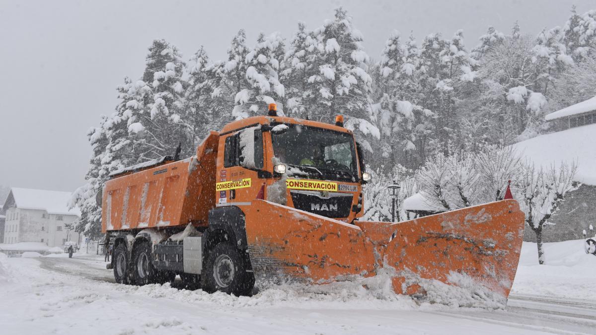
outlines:
{"label": "white multi-storey building with snow-covered roof at far left", "polygon": [[80,244],[80,234],[69,229],[79,209],[69,210],[70,192],[13,187],[2,208],[6,211],[4,243],[42,242],[48,247],[66,241]]}

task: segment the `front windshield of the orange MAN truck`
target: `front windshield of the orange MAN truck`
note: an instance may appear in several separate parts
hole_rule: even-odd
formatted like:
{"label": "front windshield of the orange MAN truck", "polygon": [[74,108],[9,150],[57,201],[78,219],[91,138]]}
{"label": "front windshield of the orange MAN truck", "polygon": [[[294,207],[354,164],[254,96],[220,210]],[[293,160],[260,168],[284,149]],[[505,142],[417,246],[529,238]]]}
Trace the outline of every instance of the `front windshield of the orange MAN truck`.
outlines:
{"label": "front windshield of the orange MAN truck", "polygon": [[287,125],[271,133],[275,157],[288,166],[288,175],[337,181],[358,181],[352,135],[302,125]]}

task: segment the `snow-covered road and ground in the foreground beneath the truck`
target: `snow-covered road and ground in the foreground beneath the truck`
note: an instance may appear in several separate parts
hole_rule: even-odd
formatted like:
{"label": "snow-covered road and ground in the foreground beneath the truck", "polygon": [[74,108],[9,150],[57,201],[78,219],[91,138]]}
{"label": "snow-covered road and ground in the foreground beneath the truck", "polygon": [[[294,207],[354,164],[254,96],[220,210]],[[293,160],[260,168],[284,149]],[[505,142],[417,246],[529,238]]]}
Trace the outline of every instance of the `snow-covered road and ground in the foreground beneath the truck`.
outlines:
{"label": "snow-covered road and ground in the foreground beneath the truck", "polygon": [[2,259],[2,334],[594,333],[596,305],[516,293],[504,310],[418,306],[347,284],[253,297],[113,283],[103,258]]}

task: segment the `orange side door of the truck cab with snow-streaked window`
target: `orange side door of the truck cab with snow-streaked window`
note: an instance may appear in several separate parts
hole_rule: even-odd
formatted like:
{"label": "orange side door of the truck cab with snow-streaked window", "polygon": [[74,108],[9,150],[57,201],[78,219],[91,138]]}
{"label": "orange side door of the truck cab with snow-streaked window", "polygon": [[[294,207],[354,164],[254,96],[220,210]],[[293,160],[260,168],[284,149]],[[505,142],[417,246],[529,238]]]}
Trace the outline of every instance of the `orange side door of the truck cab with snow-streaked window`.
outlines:
{"label": "orange side door of the truck cab with snow-streaked window", "polygon": [[246,206],[260,191],[263,170],[263,133],[260,127],[226,135],[220,143],[216,206]]}

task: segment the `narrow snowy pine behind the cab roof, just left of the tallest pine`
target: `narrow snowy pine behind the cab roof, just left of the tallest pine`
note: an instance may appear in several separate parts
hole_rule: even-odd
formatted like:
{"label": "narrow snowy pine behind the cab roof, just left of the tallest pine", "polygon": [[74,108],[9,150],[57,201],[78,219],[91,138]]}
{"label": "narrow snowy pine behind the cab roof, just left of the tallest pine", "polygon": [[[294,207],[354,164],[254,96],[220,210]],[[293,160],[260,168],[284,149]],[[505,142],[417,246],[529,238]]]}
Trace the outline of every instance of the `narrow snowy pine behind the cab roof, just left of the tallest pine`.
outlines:
{"label": "narrow snowy pine behind the cab roof, just left of the tallest pine", "polygon": [[285,114],[302,118],[312,117],[318,103],[316,84],[309,80],[319,74],[317,41],[312,32],[306,30],[303,22],[290,43],[284,58],[285,69],[281,71],[281,82],[285,88]]}

